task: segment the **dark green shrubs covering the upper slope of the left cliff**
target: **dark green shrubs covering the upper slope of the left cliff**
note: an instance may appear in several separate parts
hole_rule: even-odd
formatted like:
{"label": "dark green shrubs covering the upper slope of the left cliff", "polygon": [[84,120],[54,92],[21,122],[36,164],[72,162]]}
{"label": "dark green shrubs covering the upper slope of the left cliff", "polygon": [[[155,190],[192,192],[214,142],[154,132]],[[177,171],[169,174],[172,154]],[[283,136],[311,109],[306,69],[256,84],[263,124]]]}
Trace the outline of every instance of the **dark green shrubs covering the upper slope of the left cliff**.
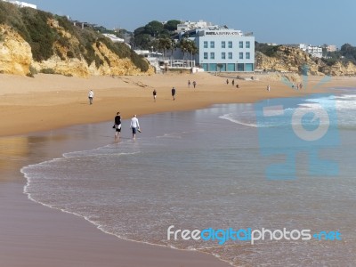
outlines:
{"label": "dark green shrubs covering the upper slope of the left cliff", "polygon": [[[58,28],[53,27],[52,23],[57,23],[57,21],[61,28],[77,38],[79,44],[70,40],[69,36],[63,34]],[[149,69],[148,62],[134,53],[126,44],[114,44],[93,28],[75,27],[66,17],[28,7],[20,8],[0,1],[0,24],[9,25],[28,42],[34,61],[45,61],[57,54],[61,60],[66,57],[84,58],[88,65],[95,62],[95,66],[99,68],[104,61],[95,53],[93,45],[99,45],[98,42],[102,42],[119,58],[131,59],[134,65],[143,72]],[[54,44],[60,44],[60,47]],[[62,53],[63,50],[66,54]]]}

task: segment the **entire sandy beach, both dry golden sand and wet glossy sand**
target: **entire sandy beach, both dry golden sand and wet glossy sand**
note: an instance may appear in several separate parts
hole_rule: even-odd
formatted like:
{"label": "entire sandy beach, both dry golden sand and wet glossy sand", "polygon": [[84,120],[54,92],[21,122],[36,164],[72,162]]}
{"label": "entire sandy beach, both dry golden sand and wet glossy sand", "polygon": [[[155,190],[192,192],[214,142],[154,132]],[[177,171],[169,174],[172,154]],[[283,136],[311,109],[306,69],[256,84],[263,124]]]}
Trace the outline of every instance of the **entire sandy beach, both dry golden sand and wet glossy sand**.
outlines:
{"label": "entire sandy beach, both dry golden sand and wet glossy sand", "polygon": [[[251,75],[246,75],[250,77]],[[267,98],[320,93],[333,86],[353,86],[354,77],[309,77],[308,86],[293,90],[279,77],[166,74],[151,77],[35,78],[0,75],[0,258],[4,266],[228,266],[212,255],[174,250],[117,239],[72,214],[41,206],[23,194],[20,168],[76,148],[94,149],[108,137],[71,136],[88,124],[164,111],[200,109],[214,103],[254,102]],[[226,85],[229,79],[229,85]],[[196,81],[197,87],[190,82]],[[300,82],[300,81],[299,81]],[[295,82],[296,84],[297,82]],[[271,85],[271,92],[267,92]],[[172,100],[171,88],[176,88]],[[93,105],[87,93],[93,89]],[[152,91],[158,93],[153,101]],[[97,125],[98,126],[98,125]],[[100,125],[99,125],[100,126]],[[69,128],[64,128],[69,127]]]}

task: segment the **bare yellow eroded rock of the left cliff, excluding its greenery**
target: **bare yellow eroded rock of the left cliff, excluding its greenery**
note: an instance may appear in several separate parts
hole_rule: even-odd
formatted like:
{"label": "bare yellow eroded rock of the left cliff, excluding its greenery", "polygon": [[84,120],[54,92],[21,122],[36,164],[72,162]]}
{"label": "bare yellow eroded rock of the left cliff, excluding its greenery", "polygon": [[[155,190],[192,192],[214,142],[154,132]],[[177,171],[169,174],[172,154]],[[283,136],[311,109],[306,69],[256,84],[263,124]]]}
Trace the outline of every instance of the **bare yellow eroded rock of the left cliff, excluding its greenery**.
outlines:
{"label": "bare yellow eroded rock of the left cliff, excluding its greenery", "polygon": [[33,60],[30,45],[17,32],[6,25],[0,25],[0,73],[30,75],[34,72],[46,71],[74,77],[154,74],[152,67],[142,72],[130,59],[119,58],[101,42],[93,44],[95,54],[101,59],[100,66],[96,66],[95,61],[88,65],[83,56],[69,57],[70,48],[78,49],[79,41],[61,28],[55,20],[48,23],[69,40],[69,46],[55,42],[53,49],[59,51],[61,57],[54,54],[50,59],[41,62]]}

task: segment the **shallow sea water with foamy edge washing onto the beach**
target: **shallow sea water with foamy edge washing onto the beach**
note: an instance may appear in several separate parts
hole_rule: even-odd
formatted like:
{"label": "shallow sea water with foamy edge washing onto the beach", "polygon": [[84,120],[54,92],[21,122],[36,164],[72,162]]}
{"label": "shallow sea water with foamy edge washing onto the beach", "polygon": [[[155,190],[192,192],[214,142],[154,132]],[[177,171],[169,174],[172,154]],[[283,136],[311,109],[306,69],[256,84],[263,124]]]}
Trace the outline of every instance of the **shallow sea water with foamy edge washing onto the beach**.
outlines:
{"label": "shallow sea water with foamy edge washing onto the beach", "polygon": [[[333,176],[307,172],[308,155],[295,157],[292,180],[270,180],[263,156],[262,116],[254,104],[141,117],[136,141],[128,129],[120,142],[64,154],[26,166],[28,197],[78,214],[102,231],[166,247],[195,249],[236,266],[352,266],[356,264],[356,94],[301,100],[337,110],[339,144],[320,148],[338,166]],[[330,105],[329,105],[330,103]],[[260,122],[260,123],[258,123]],[[277,123],[290,125],[287,120]],[[126,137],[126,138],[125,138]],[[204,241],[167,239],[167,229],[269,229],[337,231],[341,240]]]}

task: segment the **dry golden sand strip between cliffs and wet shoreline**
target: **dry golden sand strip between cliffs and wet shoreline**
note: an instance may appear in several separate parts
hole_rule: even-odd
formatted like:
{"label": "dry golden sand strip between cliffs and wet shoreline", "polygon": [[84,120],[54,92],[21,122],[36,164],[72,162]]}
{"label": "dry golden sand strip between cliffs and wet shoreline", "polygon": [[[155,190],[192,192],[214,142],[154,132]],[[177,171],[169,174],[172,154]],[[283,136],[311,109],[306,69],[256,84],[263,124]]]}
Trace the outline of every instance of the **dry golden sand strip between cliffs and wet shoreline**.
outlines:
{"label": "dry golden sand strip between cliffs and wet shoreline", "polygon": [[[311,77],[308,88],[296,91],[277,77],[255,76],[258,81],[235,80],[239,89],[226,85],[227,77],[201,73],[195,75],[157,75],[153,77],[63,77],[37,75],[35,78],[0,75],[0,136],[26,134],[68,125],[112,120],[117,111],[124,118],[134,114],[198,109],[214,103],[252,102],[269,97],[315,93],[309,87],[321,77]],[[197,82],[193,89],[188,80]],[[277,79],[277,80],[276,80]],[[337,78],[324,86],[352,84],[354,78]],[[271,85],[271,92],[266,86]],[[172,101],[171,88],[176,88]],[[152,91],[158,92],[157,102]],[[93,105],[87,93],[93,89]]]}

